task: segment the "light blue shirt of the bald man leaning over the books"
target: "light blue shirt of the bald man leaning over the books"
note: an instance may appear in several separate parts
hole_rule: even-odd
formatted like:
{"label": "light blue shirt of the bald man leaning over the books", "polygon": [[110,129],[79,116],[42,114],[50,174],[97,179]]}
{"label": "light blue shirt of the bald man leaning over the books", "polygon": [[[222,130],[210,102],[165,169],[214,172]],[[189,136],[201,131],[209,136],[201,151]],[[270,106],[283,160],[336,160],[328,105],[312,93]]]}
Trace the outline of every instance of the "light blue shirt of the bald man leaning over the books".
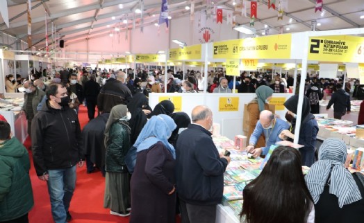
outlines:
{"label": "light blue shirt of the bald man leaning over the books", "polygon": [[258,142],[259,137],[263,133],[265,136],[265,147],[262,148],[262,155],[266,155],[268,151],[270,150],[270,146],[274,145],[276,142],[281,141],[279,138],[279,134],[283,130],[288,130],[290,126],[285,121],[281,120],[280,118],[276,118],[276,123],[273,127],[273,129],[265,130],[263,129],[262,124],[260,124],[260,121],[256,123],[256,128],[251,134],[249,139],[249,144],[256,145]]}

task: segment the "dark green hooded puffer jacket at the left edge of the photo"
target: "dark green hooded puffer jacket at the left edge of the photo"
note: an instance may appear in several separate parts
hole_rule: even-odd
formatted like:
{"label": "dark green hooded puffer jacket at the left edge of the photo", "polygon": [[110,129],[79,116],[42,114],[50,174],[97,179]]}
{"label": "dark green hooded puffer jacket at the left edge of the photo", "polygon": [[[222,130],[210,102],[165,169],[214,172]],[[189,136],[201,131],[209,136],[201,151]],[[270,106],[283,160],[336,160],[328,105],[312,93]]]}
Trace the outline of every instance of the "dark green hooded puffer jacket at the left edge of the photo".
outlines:
{"label": "dark green hooded puffer jacket at the left edge of the photo", "polygon": [[0,145],[0,222],[22,217],[33,207],[29,154],[15,137]]}

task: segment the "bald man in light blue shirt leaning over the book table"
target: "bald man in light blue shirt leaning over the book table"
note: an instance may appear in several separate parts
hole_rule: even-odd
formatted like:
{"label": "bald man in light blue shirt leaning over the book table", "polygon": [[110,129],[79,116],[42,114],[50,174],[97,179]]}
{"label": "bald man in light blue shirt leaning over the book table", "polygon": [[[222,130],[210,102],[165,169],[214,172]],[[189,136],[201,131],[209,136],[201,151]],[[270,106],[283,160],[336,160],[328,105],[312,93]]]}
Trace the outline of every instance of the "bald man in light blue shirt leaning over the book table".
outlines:
{"label": "bald man in light blue shirt leaning over the book table", "polygon": [[[276,142],[281,141],[279,134],[283,130],[288,130],[290,126],[286,121],[276,118],[272,111],[264,110],[260,112],[259,121],[256,123],[256,128],[251,134],[249,139],[249,145],[245,150],[253,154],[253,157],[259,157],[260,155],[266,155],[270,150],[270,146]],[[265,147],[255,148],[256,143],[261,134],[265,136]]]}

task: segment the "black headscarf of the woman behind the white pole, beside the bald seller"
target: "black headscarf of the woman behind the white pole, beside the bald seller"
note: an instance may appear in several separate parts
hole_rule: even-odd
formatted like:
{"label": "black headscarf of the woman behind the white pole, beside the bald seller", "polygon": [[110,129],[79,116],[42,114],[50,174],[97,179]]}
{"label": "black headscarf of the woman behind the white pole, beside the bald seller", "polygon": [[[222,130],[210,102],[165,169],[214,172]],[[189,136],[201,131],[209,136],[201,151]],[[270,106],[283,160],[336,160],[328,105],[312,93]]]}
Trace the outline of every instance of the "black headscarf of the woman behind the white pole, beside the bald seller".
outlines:
{"label": "black headscarf of the woman behind the white pole, beside the bald seller", "polygon": [[[298,107],[298,95],[292,96],[284,102],[284,107],[286,109],[292,111],[297,115],[297,107]],[[315,116],[311,114],[311,106],[310,106],[310,100],[304,96],[304,102],[302,105],[302,113],[301,113],[301,127],[304,125],[304,123],[307,123],[311,119],[314,119]],[[296,118],[293,118],[292,120],[292,133],[295,134],[295,127],[296,127]]]}

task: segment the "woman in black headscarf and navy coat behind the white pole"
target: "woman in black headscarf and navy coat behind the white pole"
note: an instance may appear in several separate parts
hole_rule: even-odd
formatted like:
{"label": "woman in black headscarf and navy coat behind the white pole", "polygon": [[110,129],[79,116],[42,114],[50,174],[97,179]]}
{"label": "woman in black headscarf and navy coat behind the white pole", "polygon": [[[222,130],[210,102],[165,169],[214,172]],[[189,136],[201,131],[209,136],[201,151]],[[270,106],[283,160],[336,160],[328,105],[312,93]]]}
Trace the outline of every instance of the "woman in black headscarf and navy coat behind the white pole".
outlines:
{"label": "woman in black headscarf and navy coat behind the white pole", "polygon": [[[288,109],[288,114],[292,115],[293,119],[290,130],[283,130],[279,137],[283,140],[287,140],[287,138],[293,140],[295,138],[295,131],[297,131],[295,128],[297,120],[298,95],[288,98],[283,105],[286,109]],[[298,144],[304,145],[303,148],[299,149],[299,152],[301,152],[302,165],[308,167],[315,162],[315,146],[318,132],[318,125],[315,120],[315,116],[313,116],[310,111],[310,101],[306,96],[304,96]]]}

